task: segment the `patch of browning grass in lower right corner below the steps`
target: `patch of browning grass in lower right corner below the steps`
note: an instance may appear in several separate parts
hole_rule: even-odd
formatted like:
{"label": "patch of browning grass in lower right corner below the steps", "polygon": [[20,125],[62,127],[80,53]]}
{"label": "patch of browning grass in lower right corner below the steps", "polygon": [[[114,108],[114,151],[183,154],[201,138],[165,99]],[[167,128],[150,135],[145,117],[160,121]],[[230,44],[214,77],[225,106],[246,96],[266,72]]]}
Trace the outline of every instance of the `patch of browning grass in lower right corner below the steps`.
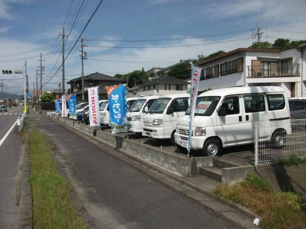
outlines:
{"label": "patch of browning grass in lower right corner below the steps", "polygon": [[222,184],[213,193],[251,209],[260,216],[262,228],[306,228],[303,198],[293,192],[273,191],[255,174],[231,186]]}

